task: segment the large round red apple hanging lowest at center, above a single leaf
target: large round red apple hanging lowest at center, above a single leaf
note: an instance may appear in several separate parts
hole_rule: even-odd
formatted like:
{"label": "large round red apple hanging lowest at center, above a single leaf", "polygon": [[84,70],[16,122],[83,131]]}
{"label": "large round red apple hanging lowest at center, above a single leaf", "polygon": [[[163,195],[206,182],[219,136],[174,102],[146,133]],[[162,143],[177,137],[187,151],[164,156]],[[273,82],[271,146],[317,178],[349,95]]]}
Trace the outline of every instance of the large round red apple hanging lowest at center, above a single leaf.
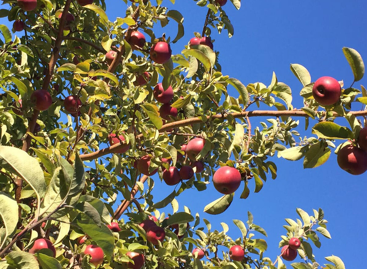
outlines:
{"label": "large round red apple hanging lowest at center, above a single leaf", "polygon": [[213,176],[215,189],[223,194],[235,192],[241,184],[241,173],[233,167],[222,166]]}

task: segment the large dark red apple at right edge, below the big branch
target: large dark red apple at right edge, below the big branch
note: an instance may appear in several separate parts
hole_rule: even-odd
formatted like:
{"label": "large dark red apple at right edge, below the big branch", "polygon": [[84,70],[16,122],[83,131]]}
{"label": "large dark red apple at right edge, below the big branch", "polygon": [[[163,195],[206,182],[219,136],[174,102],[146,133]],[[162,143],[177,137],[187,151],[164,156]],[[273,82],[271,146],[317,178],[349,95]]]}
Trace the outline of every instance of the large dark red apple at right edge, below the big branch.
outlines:
{"label": "large dark red apple at right edge, below the big branch", "polygon": [[338,165],[352,175],[361,175],[367,171],[367,152],[352,144],[338,152]]}

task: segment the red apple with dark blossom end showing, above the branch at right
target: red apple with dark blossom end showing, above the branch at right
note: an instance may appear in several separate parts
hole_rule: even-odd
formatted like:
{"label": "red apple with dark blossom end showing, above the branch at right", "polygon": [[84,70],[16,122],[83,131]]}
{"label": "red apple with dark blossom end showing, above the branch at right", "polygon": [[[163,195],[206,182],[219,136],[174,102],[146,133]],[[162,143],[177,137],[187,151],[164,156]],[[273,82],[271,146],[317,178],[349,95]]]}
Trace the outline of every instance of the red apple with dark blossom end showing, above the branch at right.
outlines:
{"label": "red apple with dark blossom end showing, above the branch at right", "polygon": [[313,85],[312,95],[320,105],[333,105],[340,99],[341,87],[338,80],[323,76]]}

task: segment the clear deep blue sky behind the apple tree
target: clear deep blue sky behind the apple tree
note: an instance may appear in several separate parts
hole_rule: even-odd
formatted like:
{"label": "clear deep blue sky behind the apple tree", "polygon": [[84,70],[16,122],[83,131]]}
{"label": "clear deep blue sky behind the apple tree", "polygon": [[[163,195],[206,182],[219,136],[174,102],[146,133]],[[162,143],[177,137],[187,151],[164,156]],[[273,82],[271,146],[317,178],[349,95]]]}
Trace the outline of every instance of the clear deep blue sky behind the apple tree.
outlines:
{"label": "clear deep blue sky behind the apple tree", "polygon": [[[111,21],[124,17],[126,4],[123,1],[108,0],[107,4]],[[173,53],[177,54],[193,37],[193,32],[202,31],[207,10],[191,0],[177,0],[174,6],[165,0],[163,4],[179,10],[185,17],[185,36],[171,45]],[[349,86],[353,75],[342,47],[358,50],[367,61],[367,4],[363,0],[351,0],[347,5],[342,0],[247,0],[242,1],[239,11],[228,1],[224,9],[235,27],[235,35],[229,39],[226,31],[222,35],[212,31],[212,39],[216,40],[214,49],[220,51],[222,72],[240,79],[245,85],[257,81],[269,85],[275,71],[278,80],[291,87],[294,107],[302,107],[302,98],[299,96],[301,84],[289,68],[291,63],[308,68],[313,81],[328,75],[343,79]],[[0,18],[0,23],[11,25],[5,18]],[[176,29],[176,23],[171,21],[164,29],[155,28],[155,33],[160,36],[166,32],[167,36],[174,38]],[[360,84],[366,86],[367,78],[355,86]],[[233,92],[233,95],[238,94]],[[300,119],[298,131],[302,136],[310,135],[310,132],[304,132],[303,119]],[[177,197],[179,210],[183,211],[183,205],[186,205],[193,214],[199,212],[202,218],[210,220],[213,229],[222,229],[220,222],[226,222],[233,238],[240,237],[240,232],[231,220],[245,222],[247,211],[251,211],[254,222],[268,232],[266,256],[274,260],[280,253],[280,235],[286,233],[282,227],[286,224],[284,218],[297,218],[297,207],[308,212],[321,207],[330,223],[328,230],[333,238],[321,238],[321,249],[314,248],[317,261],[323,265],[326,262],[323,257],[337,255],[343,259],[346,268],[359,268],[360,260],[356,258],[365,257],[367,250],[364,244],[367,240],[367,174],[352,176],[342,171],[333,153],[326,164],[316,169],[304,170],[302,161],[291,162],[276,157],[272,161],[278,166],[277,179],[269,179],[260,193],[250,193],[247,200],[240,200],[241,190],[237,191],[232,205],[223,214],[203,213],[206,204],[220,197],[212,184],[200,193],[196,190],[182,193]],[[166,197],[172,189],[156,180],[155,201]],[[170,205],[165,209],[167,213],[171,210]],[[297,258],[296,261],[301,260]]]}

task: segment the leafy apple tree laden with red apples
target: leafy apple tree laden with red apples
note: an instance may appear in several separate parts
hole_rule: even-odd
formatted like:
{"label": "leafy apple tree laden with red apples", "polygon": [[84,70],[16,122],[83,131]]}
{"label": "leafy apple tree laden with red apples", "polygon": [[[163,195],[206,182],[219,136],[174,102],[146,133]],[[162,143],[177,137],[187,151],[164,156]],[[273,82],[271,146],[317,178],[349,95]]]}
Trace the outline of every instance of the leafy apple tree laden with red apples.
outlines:
{"label": "leafy apple tree laden with red apples", "polygon": [[[366,172],[366,89],[292,64],[304,97],[295,109],[275,73],[244,85],[221,72],[211,32],[233,35],[225,7],[240,0],[188,1],[207,15],[180,51],[170,44],[184,18],[167,0],[123,1],[110,21],[105,0],[3,0],[0,15],[14,24],[0,25],[0,268],[345,268],[313,254],[331,238],[321,208],[297,208],[279,256],[266,257],[251,212],[233,219],[231,238],[225,222],[213,230],[197,208],[178,211],[175,197],[214,184],[221,197],[204,211],[221,214],[276,179],[275,156],[314,168],[334,151],[345,171]],[[177,32],[156,36],[157,24]],[[360,54],[343,53],[359,81]],[[311,137],[300,137],[300,118]],[[154,180],[172,186],[161,201]]]}

